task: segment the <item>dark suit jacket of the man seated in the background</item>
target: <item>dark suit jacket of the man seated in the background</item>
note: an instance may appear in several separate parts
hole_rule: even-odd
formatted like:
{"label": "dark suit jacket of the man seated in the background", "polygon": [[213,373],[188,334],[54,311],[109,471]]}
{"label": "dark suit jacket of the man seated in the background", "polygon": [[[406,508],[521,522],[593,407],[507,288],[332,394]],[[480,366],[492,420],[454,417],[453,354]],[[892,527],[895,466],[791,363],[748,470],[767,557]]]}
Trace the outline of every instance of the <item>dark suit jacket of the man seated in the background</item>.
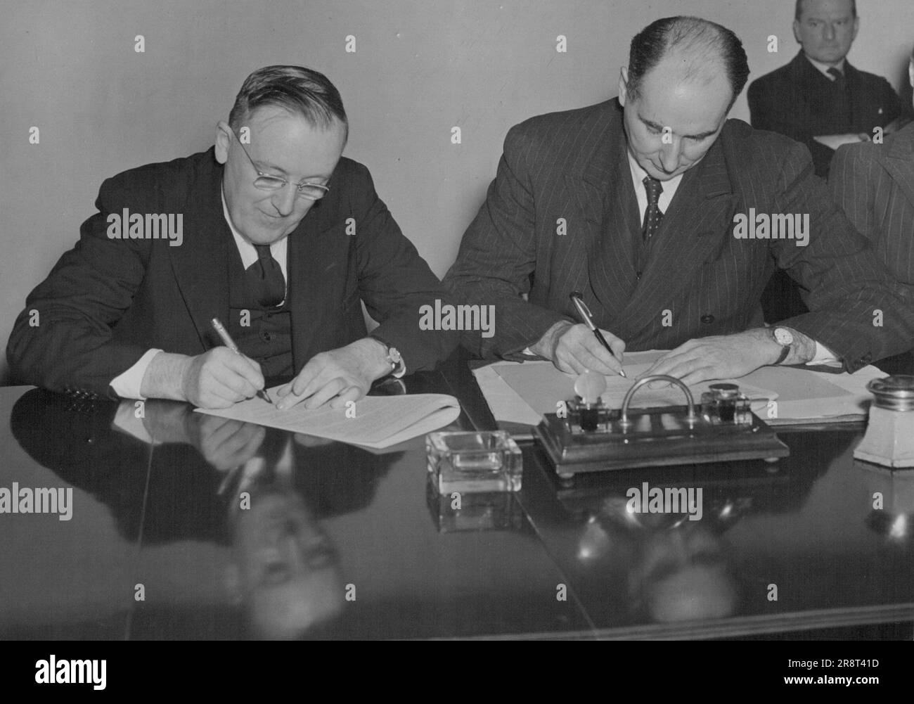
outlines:
{"label": "dark suit jacket of the man seated in the background", "polygon": [[845,59],[845,77],[854,115],[851,124],[828,110],[823,96],[831,89],[831,81],[806,59],[801,49],[789,64],[749,85],[752,126],[802,142],[813,155],[815,173],[828,176],[834,150],[819,144],[813,136],[863,132],[872,136],[874,127],[885,127],[909,114],[891,84],[881,76],[857,70]]}

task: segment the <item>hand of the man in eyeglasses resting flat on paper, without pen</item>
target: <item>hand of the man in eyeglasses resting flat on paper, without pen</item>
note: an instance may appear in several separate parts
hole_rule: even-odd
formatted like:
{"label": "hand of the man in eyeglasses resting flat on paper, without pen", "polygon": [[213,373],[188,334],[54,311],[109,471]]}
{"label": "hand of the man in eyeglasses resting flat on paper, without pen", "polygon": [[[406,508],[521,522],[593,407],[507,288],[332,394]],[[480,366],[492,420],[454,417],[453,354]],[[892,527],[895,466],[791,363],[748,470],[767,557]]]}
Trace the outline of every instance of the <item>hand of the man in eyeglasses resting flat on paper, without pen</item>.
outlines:
{"label": "hand of the man in eyeglasses resting flat on paper, without pen", "polygon": [[346,401],[361,399],[371,382],[389,373],[387,350],[377,340],[364,338],[351,345],[314,355],[290,383],[276,389],[276,408],[292,408],[304,401],[315,409],[330,401],[343,408]]}

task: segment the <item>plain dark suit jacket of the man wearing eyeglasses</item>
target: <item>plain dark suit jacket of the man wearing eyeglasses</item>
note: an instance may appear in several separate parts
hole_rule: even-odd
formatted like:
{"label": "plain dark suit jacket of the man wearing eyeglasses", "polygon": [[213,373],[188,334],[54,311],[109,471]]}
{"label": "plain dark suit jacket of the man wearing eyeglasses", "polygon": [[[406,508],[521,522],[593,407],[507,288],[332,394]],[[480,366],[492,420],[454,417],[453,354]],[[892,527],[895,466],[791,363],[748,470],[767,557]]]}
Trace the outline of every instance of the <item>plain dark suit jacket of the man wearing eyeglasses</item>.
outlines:
{"label": "plain dark suit jacket of the man wearing eyeglasses", "polygon": [[[228,319],[228,229],[213,149],[107,179],[99,212],[80,241],[29,294],[6,349],[12,375],[47,389],[113,395],[109,383],[152,347],[199,355],[221,344],[210,320]],[[419,309],[445,298],[441,283],[377,197],[365,166],[340,159],[330,192],[289,235],[292,357],[297,373],[316,353],[366,335],[360,299],[409,371],[456,347],[453,335],[420,332]],[[183,213],[184,241],[112,240],[107,216]],[[356,235],[345,233],[346,219]],[[39,325],[29,325],[29,311]]]}

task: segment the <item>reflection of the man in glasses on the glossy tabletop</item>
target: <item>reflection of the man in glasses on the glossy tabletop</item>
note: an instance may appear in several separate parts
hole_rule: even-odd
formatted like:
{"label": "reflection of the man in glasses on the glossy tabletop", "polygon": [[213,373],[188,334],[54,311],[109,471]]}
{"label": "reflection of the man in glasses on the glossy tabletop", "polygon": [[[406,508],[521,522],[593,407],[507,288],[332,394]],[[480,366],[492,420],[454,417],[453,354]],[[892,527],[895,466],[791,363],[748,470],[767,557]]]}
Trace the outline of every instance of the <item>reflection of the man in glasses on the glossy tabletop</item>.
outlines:
{"label": "reflection of the man in glasses on the glossy tabletop", "polygon": [[[218,592],[241,607],[250,635],[308,635],[342,611],[345,579],[322,519],[366,507],[401,453],[293,437],[169,401],[147,402],[142,420],[129,401],[74,405],[28,391],[10,419],[16,441],[110,507],[125,539],[174,545],[175,557],[187,541],[231,548],[221,583],[194,583],[212,565],[184,575],[167,561],[156,578],[189,588],[201,604]],[[156,593],[154,613],[181,607],[175,592]]]}

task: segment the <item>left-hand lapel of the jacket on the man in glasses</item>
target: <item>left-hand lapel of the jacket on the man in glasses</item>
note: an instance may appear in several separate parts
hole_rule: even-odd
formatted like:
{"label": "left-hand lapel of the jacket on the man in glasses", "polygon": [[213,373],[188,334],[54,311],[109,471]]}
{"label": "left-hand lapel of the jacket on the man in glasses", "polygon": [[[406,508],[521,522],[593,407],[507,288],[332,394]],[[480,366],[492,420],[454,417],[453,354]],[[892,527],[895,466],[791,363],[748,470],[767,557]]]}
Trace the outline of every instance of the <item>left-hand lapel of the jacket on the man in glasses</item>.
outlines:
{"label": "left-hand lapel of the jacket on the man in glasses", "polygon": [[169,247],[172,271],[204,350],[221,345],[211,320],[228,320],[228,246],[234,246],[222,211],[222,167],[214,159],[211,171],[200,176],[184,208],[185,237]]}

